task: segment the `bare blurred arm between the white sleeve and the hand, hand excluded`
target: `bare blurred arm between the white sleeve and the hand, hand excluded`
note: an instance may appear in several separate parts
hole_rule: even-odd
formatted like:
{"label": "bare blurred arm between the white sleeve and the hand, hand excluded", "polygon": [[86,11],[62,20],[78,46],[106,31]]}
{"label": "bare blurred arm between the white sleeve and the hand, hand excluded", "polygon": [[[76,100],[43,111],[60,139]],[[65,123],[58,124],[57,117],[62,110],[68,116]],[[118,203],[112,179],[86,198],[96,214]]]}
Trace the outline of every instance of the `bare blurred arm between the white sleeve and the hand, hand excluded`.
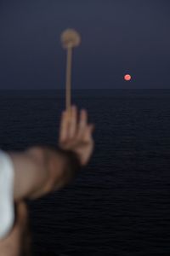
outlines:
{"label": "bare blurred arm between the white sleeve and the hand, hand excluded", "polygon": [[64,154],[48,147],[10,153],[14,165],[14,200],[35,199],[60,189],[71,179]]}

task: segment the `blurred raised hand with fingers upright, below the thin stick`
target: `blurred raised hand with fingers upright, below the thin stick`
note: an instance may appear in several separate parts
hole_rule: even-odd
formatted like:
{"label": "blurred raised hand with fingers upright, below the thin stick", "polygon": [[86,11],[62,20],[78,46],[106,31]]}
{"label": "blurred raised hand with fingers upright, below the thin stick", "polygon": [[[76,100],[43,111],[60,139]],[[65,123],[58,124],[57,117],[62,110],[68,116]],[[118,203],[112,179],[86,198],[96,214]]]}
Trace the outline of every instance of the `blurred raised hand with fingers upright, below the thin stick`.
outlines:
{"label": "blurred raised hand with fingers upright, below the thin stick", "polygon": [[94,151],[92,137],[94,125],[88,124],[86,110],[81,110],[79,120],[77,115],[76,106],[72,106],[71,110],[63,111],[60,122],[59,147],[75,152],[82,166],[85,166]]}

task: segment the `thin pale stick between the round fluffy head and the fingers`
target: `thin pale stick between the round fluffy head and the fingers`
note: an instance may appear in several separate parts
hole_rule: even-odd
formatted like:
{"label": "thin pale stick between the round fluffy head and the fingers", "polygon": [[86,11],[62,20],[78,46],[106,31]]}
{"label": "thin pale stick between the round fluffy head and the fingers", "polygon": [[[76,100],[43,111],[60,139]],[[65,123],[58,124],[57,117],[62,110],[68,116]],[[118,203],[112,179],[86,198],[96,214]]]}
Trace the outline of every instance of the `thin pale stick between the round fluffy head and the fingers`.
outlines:
{"label": "thin pale stick between the round fluffy head and the fingers", "polygon": [[66,63],[66,109],[71,110],[71,62],[72,48],[67,48],[67,63]]}

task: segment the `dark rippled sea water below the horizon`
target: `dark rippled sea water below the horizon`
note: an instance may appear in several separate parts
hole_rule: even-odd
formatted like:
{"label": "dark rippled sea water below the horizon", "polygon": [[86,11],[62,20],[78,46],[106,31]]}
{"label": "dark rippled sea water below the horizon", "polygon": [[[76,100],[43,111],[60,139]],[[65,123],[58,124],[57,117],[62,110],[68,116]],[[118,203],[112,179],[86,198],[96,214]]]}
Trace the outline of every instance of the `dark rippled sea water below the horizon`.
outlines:
{"label": "dark rippled sea water below the horizon", "polygon": [[[35,255],[170,255],[170,91],[82,91],[74,102],[96,125],[94,157],[31,202]],[[59,91],[1,92],[1,148],[57,142],[64,106]]]}

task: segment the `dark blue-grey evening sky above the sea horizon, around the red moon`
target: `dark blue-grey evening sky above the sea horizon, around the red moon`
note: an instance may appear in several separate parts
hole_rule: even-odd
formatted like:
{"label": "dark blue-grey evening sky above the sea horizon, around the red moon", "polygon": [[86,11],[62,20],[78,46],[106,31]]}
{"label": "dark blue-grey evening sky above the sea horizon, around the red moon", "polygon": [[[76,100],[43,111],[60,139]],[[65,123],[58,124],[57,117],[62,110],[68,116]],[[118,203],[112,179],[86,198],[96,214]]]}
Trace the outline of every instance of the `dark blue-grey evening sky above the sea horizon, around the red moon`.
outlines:
{"label": "dark blue-grey evening sky above the sea horizon, around the red moon", "polygon": [[169,14],[169,0],[0,0],[0,89],[65,88],[68,27],[73,88],[170,88]]}

